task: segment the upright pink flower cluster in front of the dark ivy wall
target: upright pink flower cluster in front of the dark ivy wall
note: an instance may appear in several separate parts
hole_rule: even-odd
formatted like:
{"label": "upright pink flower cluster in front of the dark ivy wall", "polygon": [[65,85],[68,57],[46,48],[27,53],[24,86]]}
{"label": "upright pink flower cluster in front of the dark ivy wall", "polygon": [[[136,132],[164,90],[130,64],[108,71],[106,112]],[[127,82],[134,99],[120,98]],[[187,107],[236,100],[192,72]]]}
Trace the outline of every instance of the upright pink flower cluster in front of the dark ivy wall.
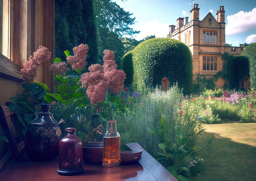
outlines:
{"label": "upright pink flower cluster in front of the dark ivy wall", "polygon": [[86,65],[85,61],[89,48],[87,44],[81,43],[73,48],[74,56],[69,55],[67,57],[67,63],[72,67],[72,70],[82,70]]}

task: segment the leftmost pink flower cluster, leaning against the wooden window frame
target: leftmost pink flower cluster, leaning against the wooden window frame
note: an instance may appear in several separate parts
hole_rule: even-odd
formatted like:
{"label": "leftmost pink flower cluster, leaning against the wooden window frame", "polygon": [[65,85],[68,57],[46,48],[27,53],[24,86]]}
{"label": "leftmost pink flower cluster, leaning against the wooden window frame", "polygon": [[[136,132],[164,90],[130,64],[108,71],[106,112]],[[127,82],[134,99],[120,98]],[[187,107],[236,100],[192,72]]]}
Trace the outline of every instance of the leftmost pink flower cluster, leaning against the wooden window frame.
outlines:
{"label": "leftmost pink flower cluster, leaning against the wooden window frame", "polygon": [[38,66],[43,61],[48,61],[52,56],[52,52],[48,50],[48,48],[44,47],[43,45],[39,46],[39,49],[33,53],[28,58],[26,63],[23,63],[23,68],[21,69],[21,75],[23,79],[27,82],[33,82],[34,77],[36,76],[36,70]]}

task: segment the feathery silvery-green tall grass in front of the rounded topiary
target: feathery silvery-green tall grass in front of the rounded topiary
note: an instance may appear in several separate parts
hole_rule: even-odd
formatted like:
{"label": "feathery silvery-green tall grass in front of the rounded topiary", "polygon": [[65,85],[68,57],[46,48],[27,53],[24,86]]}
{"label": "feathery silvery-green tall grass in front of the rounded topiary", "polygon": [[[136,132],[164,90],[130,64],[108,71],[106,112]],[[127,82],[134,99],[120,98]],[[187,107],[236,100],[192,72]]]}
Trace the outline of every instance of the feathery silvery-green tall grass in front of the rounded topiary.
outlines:
{"label": "feathery silvery-green tall grass in front of the rounded topiary", "polygon": [[126,114],[117,122],[121,142],[138,142],[148,153],[154,155],[158,151],[159,140],[149,130],[161,126],[161,117],[166,124],[169,138],[175,137],[175,128],[180,124],[180,102],[182,94],[177,85],[167,91],[159,88],[145,90],[134,105],[133,114]]}

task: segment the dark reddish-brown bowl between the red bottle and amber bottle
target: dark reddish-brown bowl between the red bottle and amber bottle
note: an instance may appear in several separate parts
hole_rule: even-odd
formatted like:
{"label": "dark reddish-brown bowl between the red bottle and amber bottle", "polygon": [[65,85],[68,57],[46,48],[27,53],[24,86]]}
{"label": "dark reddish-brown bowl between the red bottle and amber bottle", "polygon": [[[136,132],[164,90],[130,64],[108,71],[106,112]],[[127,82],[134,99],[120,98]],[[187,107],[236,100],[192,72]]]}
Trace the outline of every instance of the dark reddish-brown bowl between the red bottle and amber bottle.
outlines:
{"label": "dark reddish-brown bowl between the red bottle and amber bottle", "polygon": [[83,142],[83,160],[87,163],[102,164],[102,142]]}

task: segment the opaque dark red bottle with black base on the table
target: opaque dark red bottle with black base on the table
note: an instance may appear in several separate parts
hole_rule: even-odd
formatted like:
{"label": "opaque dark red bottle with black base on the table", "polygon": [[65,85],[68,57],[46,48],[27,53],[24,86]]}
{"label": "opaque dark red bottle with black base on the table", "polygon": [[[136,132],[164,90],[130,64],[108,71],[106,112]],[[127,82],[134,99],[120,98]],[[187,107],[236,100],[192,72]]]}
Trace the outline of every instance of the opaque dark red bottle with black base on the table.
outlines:
{"label": "opaque dark red bottle with black base on the table", "polygon": [[76,136],[76,128],[66,128],[67,136],[59,143],[60,175],[76,175],[84,172],[82,140]]}

